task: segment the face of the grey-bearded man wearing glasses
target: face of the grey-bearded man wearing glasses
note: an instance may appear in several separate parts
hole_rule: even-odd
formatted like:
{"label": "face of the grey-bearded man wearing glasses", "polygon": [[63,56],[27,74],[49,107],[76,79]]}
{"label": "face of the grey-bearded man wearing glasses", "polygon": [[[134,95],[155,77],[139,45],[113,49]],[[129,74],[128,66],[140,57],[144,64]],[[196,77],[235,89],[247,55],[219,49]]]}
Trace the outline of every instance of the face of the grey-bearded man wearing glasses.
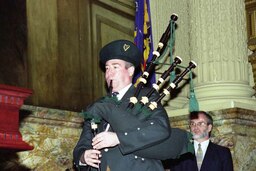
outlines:
{"label": "face of the grey-bearded man wearing glasses", "polygon": [[209,139],[209,133],[212,130],[212,125],[208,124],[206,116],[198,114],[198,118],[190,121],[190,131],[193,134],[194,140],[198,142]]}

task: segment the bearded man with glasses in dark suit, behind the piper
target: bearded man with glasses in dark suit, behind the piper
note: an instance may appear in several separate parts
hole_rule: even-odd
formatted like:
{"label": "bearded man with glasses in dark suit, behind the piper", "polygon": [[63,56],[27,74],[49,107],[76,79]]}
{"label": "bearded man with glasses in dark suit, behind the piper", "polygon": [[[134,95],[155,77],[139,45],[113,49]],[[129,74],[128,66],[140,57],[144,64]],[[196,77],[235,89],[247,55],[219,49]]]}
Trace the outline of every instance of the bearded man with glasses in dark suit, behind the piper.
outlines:
{"label": "bearded man with glasses in dark suit, behind the piper", "polygon": [[[171,171],[233,171],[229,148],[212,143],[212,117],[204,112],[190,114],[190,131],[193,134],[195,155],[187,153],[171,160]],[[201,149],[199,148],[201,147]]]}

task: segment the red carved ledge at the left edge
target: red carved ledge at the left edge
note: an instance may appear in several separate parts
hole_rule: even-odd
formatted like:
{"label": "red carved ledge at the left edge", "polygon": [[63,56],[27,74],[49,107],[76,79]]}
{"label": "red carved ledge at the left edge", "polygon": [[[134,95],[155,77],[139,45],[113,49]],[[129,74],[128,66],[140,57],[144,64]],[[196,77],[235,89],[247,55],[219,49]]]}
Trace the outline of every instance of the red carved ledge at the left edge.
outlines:
{"label": "red carved ledge at the left edge", "polygon": [[0,149],[32,150],[19,131],[19,110],[32,90],[0,84]]}

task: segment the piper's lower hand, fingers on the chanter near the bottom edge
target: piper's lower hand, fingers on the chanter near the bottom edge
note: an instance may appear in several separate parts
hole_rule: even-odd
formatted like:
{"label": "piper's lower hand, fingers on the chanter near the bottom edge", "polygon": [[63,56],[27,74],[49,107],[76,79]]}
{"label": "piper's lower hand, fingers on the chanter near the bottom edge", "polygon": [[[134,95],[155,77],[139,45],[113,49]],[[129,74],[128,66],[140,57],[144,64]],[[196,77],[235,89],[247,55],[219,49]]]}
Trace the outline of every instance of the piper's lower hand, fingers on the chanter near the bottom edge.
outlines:
{"label": "piper's lower hand, fingers on the chanter near the bottom edge", "polygon": [[86,150],[81,157],[81,161],[89,166],[99,168],[101,153],[99,150]]}

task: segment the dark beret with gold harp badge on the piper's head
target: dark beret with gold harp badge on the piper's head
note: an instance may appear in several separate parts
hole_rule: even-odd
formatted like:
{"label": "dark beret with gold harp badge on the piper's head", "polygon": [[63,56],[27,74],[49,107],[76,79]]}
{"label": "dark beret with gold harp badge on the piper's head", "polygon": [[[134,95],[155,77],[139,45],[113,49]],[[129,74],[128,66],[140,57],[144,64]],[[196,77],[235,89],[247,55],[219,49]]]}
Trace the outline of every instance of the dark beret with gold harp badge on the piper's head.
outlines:
{"label": "dark beret with gold harp badge on the piper's head", "polygon": [[110,59],[121,59],[139,66],[142,55],[137,46],[128,40],[115,40],[100,50],[100,62],[104,65]]}

